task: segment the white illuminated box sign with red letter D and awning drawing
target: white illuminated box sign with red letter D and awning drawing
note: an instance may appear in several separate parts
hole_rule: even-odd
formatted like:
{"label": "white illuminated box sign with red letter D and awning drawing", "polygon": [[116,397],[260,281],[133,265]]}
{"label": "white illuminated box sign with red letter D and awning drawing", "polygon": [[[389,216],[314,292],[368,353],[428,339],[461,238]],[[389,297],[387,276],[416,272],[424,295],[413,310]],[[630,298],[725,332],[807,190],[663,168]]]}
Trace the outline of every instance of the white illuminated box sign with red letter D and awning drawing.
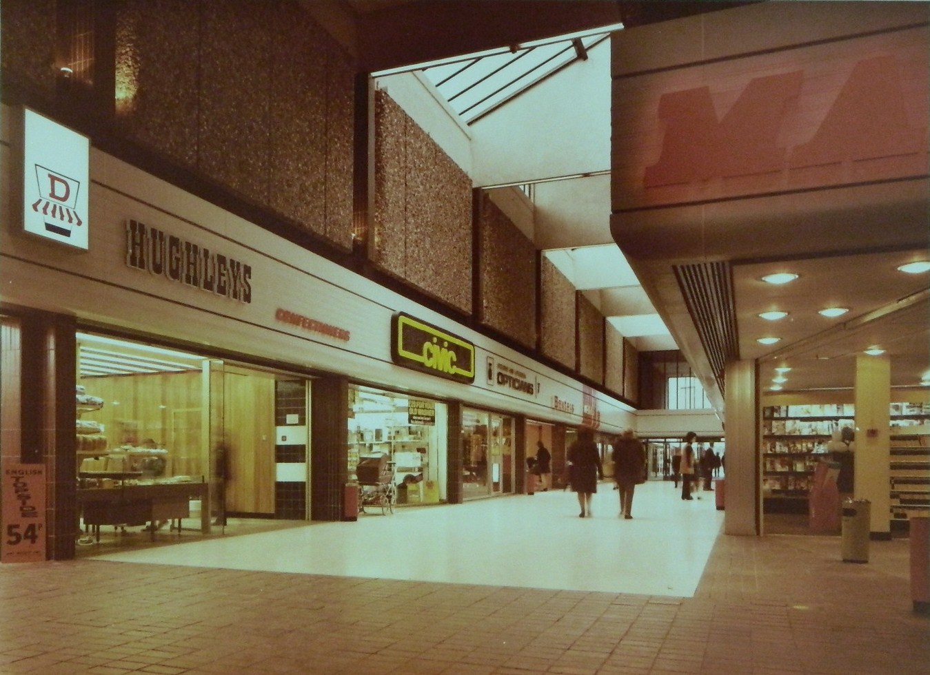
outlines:
{"label": "white illuminated box sign with red letter D and awning drawing", "polygon": [[23,229],[86,250],[90,141],[23,111]]}

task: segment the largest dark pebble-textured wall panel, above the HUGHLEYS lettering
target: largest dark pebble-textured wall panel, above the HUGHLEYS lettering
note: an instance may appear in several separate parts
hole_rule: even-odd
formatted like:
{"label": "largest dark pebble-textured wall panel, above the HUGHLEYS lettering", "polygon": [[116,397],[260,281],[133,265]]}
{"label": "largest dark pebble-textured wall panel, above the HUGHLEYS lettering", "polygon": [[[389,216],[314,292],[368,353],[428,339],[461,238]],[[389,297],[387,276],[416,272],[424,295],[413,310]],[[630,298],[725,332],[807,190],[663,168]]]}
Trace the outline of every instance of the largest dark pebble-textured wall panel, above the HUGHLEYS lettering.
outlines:
{"label": "largest dark pebble-textured wall panel, above the HUGHLEYS lettering", "polygon": [[352,64],[299,5],[138,0],[119,22],[131,136],[352,248]]}

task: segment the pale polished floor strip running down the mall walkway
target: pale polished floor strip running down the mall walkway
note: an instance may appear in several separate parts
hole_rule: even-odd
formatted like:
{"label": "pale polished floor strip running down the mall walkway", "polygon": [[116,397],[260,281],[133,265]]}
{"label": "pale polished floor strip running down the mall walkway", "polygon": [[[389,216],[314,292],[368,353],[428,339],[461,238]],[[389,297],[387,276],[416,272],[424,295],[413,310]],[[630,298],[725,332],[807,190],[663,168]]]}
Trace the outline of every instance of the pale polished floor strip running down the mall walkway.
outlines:
{"label": "pale polished floor strip running down the mall walkway", "polygon": [[[593,517],[571,492],[408,507],[356,523],[314,523],[248,536],[100,556],[120,562],[363,576],[536,589],[690,597],[720,532],[713,493],[682,501],[671,483],[636,488],[633,519],[618,518],[602,483]],[[675,551],[669,555],[669,551]]]}

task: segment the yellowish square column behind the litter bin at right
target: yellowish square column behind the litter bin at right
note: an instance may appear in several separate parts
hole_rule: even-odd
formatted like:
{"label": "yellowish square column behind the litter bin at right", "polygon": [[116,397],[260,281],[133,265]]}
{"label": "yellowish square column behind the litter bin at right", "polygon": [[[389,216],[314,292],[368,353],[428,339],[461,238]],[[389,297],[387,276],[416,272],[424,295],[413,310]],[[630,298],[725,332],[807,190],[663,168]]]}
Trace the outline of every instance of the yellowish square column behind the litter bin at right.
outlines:
{"label": "yellowish square column behind the litter bin at right", "polygon": [[856,480],[853,495],[868,499],[873,539],[891,538],[890,418],[891,360],[887,356],[856,357]]}

